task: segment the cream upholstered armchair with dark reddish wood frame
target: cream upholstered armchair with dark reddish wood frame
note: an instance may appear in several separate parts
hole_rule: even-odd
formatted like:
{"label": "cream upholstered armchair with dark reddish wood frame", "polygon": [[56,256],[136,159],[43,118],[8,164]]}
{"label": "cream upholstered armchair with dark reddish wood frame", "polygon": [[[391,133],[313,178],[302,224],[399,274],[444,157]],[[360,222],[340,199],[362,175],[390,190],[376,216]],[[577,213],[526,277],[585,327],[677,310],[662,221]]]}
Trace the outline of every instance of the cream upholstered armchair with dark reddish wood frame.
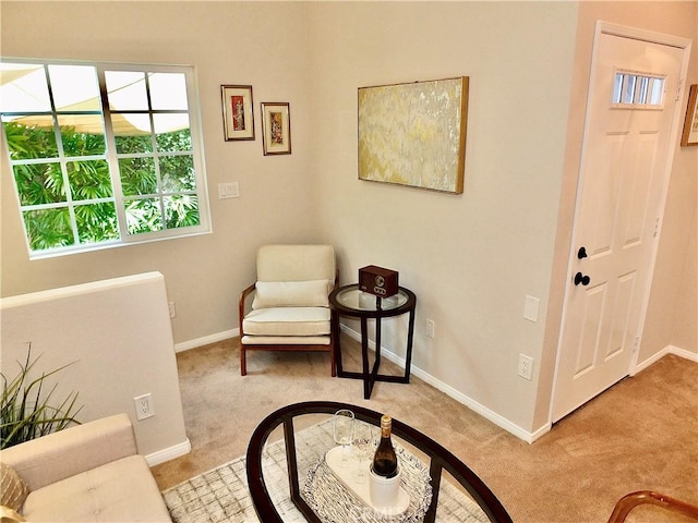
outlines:
{"label": "cream upholstered armchair with dark reddish wood frame", "polygon": [[240,295],[240,374],[248,374],[251,350],[323,351],[335,376],[328,295],[338,271],[332,245],[264,245],[256,270],[257,281]]}

